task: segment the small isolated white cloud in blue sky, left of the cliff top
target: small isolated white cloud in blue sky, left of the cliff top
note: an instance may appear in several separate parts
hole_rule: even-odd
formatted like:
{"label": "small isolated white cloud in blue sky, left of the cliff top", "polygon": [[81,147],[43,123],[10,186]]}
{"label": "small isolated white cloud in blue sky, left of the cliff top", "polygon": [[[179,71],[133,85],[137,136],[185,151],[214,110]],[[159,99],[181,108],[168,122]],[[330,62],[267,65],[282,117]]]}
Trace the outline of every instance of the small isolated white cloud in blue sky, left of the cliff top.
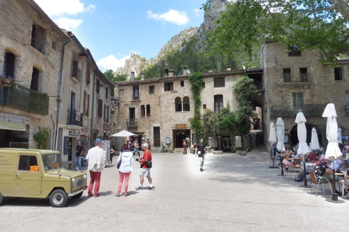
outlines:
{"label": "small isolated white cloud in blue sky, left of the cliff top", "polygon": [[155,14],[151,10],[147,12],[149,19],[160,20],[165,22],[170,22],[172,24],[177,24],[179,26],[185,25],[189,22],[189,18],[185,11],[180,10],[168,10],[168,12],[163,14]]}

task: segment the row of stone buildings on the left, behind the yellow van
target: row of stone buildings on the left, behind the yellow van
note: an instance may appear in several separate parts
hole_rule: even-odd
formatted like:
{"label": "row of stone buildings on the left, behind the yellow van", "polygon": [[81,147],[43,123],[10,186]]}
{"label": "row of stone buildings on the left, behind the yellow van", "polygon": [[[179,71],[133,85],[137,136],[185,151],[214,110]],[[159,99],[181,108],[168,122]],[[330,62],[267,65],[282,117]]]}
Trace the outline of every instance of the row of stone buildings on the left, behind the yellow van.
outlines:
{"label": "row of stone buildings on the left, behind the yellow van", "polygon": [[0,8],[0,75],[12,79],[0,84],[0,147],[36,148],[33,136],[46,127],[45,145],[70,167],[77,139],[89,147],[110,129],[114,85],[34,1],[0,1]]}

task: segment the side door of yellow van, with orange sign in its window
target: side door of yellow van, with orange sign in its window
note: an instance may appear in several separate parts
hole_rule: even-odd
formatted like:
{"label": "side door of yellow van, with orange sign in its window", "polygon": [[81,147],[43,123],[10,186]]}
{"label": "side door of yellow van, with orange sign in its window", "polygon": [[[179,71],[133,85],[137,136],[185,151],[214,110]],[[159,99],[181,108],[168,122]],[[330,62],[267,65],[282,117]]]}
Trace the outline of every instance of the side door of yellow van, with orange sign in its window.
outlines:
{"label": "side door of yellow van, with orange sign in its window", "polygon": [[18,155],[14,196],[38,196],[41,194],[42,170],[36,155]]}

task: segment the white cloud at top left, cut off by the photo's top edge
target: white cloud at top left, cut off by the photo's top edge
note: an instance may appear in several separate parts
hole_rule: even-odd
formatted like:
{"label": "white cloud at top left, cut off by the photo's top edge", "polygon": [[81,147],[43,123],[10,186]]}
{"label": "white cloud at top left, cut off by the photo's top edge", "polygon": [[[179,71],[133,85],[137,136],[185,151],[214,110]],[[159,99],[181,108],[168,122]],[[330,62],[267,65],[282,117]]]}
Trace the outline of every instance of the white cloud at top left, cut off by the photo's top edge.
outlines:
{"label": "white cloud at top left, cut off by the photo's top edge", "polygon": [[50,17],[62,15],[77,15],[92,13],[96,6],[89,4],[85,7],[81,0],[34,0]]}

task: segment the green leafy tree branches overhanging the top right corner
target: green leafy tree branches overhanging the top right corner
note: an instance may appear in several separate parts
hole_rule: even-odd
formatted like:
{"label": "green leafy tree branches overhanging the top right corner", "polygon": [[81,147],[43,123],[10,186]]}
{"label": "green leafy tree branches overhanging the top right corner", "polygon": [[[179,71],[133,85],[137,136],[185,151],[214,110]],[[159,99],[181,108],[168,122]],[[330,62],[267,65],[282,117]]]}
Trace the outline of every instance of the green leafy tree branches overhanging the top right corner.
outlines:
{"label": "green leafy tree branches overhanging the top right corner", "polygon": [[[345,3],[346,2],[346,3]],[[349,6],[346,0],[236,0],[209,32],[216,54],[253,49],[266,39],[319,49],[327,60],[349,53]]]}

